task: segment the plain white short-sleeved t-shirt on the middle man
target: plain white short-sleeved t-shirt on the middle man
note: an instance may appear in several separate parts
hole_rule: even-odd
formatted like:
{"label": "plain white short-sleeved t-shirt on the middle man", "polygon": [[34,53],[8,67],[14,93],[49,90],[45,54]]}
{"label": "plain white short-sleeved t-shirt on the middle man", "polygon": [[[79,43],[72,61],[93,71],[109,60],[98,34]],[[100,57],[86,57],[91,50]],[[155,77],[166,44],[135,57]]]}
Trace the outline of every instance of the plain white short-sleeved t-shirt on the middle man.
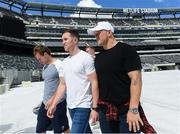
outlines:
{"label": "plain white short-sleeved t-shirt on the middle man", "polygon": [[94,71],[93,58],[82,50],[64,59],[61,76],[65,79],[67,106],[70,109],[91,107],[92,90],[87,75]]}

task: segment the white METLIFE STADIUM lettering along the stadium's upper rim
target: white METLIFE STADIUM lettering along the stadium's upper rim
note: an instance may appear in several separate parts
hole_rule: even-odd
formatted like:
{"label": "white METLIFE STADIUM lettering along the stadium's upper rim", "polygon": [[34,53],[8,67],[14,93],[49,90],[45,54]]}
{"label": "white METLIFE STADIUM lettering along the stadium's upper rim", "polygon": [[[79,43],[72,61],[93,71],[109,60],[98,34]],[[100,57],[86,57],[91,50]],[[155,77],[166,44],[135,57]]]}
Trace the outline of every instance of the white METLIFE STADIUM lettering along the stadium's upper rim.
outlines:
{"label": "white METLIFE STADIUM lettering along the stadium's upper rim", "polygon": [[158,13],[157,8],[123,8],[123,13]]}

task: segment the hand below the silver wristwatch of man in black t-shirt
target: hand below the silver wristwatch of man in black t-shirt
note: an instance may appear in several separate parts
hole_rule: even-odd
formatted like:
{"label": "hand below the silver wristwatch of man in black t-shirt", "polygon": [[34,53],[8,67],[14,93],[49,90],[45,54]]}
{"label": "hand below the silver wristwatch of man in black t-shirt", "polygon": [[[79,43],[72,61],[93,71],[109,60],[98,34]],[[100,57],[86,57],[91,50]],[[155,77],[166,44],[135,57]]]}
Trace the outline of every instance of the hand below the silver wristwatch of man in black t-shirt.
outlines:
{"label": "hand below the silver wristwatch of man in black t-shirt", "polygon": [[138,130],[140,130],[140,126],[144,125],[139,113],[134,114],[130,111],[128,111],[127,113],[127,123],[129,124],[129,131],[134,131],[137,132]]}

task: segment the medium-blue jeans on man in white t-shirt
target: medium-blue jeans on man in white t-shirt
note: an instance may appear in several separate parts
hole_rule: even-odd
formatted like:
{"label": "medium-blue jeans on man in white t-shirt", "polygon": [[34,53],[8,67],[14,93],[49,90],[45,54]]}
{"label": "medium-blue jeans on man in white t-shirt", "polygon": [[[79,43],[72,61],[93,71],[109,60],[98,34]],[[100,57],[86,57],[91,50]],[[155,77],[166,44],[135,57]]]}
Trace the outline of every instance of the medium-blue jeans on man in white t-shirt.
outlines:
{"label": "medium-blue jeans on man in white t-shirt", "polygon": [[69,109],[72,119],[72,127],[70,133],[91,133],[89,127],[90,108],[74,108]]}

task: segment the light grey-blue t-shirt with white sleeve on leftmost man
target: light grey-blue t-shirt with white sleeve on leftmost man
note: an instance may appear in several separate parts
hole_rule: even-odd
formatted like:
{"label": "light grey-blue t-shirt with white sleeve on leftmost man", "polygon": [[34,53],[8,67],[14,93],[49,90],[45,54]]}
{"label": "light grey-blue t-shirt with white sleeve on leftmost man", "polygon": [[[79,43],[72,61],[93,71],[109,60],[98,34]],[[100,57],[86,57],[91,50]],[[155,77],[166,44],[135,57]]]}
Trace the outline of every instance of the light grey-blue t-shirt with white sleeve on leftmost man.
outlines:
{"label": "light grey-blue t-shirt with white sleeve on leftmost man", "polygon": [[[54,95],[56,92],[60,77],[59,74],[62,71],[62,62],[60,60],[56,60],[52,64],[46,64],[43,67],[42,77],[44,79],[44,96],[43,96],[43,103],[46,104],[47,101]],[[64,97],[59,100],[62,102],[65,99]]]}

